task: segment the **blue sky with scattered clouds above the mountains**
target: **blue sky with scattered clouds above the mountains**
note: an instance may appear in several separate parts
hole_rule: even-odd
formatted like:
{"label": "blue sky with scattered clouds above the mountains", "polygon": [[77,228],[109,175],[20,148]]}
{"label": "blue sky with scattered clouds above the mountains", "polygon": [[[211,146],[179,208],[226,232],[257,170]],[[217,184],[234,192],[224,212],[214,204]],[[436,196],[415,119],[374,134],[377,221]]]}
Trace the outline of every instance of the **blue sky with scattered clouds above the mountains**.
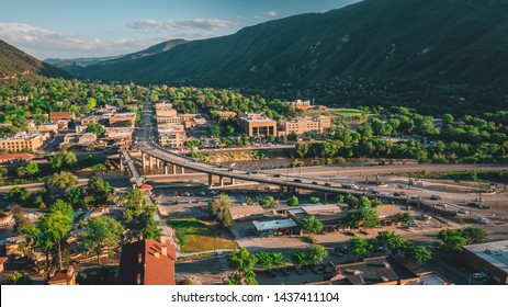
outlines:
{"label": "blue sky with scattered clouds above the mountains", "polygon": [[0,39],[38,58],[116,56],[360,0],[2,0]]}

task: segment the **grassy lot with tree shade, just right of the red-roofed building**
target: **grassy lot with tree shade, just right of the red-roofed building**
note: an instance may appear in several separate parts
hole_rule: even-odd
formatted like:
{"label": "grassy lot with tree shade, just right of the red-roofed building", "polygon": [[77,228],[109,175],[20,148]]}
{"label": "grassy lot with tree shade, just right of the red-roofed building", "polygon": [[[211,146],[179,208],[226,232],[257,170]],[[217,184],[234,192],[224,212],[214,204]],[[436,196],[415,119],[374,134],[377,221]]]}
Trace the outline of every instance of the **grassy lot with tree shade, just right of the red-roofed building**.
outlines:
{"label": "grassy lot with tree shade, just right of the red-roofed building", "polygon": [[180,250],[199,252],[214,249],[234,249],[237,247],[230,235],[210,221],[195,218],[169,219],[168,225],[177,230]]}

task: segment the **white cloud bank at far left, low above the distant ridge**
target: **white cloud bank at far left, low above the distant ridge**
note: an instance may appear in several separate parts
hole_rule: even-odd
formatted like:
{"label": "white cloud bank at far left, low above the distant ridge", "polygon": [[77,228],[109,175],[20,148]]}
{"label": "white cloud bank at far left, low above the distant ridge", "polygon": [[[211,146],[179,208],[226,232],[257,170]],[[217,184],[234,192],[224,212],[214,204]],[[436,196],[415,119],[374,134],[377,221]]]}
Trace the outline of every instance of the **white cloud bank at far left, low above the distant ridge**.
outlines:
{"label": "white cloud bank at far left, low above the distant ridge", "polygon": [[167,39],[165,37],[81,39],[72,33],[23,23],[3,22],[0,22],[0,38],[38,59],[121,55],[137,52]]}

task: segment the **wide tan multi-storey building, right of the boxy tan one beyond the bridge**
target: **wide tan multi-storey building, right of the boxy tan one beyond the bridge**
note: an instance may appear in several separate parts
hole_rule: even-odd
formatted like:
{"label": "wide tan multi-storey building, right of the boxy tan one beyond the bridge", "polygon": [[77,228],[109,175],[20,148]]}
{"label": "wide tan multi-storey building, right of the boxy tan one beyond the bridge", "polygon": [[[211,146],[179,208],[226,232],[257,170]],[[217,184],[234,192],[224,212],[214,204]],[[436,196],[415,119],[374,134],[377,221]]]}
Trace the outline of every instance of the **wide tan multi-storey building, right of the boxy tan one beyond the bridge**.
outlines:
{"label": "wide tan multi-storey building, right of the boxy tan one beyond the bridge", "polygon": [[316,117],[300,116],[300,117],[295,117],[290,121],[280,121],[279,122],[279,134],[303,135],[308,132],[323,134],[330,126],[331,126],[331,120],[328,116],[316,116]]}

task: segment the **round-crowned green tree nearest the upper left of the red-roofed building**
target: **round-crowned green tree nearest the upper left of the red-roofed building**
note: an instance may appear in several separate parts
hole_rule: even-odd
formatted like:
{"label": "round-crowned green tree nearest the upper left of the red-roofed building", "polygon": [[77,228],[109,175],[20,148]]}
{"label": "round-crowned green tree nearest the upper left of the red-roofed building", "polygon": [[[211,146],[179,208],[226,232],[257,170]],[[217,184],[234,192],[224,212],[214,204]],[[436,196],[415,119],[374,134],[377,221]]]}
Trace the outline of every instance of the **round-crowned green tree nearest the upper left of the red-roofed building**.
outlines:
{"label": "round-crowned green tree nearest the upper left of the red-roofed building", "polygon": [[113,250],[120,245],[123,226],[109,216],[95,216],[88,220],[82,235],[83,246],[97,254],[97,264],[104,250]]}

